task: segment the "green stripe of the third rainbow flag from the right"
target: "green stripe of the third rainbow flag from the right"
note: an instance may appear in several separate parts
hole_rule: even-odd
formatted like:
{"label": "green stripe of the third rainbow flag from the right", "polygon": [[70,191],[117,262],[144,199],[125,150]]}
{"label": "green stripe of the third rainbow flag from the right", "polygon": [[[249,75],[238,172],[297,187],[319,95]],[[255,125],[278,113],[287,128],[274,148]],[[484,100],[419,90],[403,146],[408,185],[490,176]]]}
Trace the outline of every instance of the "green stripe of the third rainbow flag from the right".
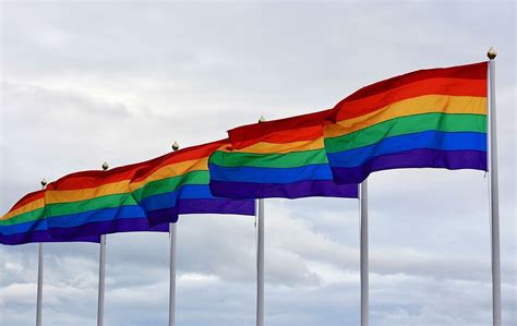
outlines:
{"label": "green stripe of the third rainbow flag from the right", "polygon": [[192,171],[182,176],[156,180],[146,183],[144,186],[133,192],[133,197],[141,202],[148,196],[172,192],[187,184],[209,184],[211,174],[208,171]]}

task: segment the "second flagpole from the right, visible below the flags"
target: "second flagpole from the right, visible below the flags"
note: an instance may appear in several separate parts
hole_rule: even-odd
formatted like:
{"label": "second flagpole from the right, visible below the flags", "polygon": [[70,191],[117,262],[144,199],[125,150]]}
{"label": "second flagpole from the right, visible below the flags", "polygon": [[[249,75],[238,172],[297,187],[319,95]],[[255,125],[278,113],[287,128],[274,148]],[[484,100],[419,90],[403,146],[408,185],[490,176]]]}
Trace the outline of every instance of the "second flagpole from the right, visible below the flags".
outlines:
{"label": "second flagpole from the right, visible below the flags", "polygon": [[361,183],[361,326],[368,326],[369,271],[368,271],[368,180]]}

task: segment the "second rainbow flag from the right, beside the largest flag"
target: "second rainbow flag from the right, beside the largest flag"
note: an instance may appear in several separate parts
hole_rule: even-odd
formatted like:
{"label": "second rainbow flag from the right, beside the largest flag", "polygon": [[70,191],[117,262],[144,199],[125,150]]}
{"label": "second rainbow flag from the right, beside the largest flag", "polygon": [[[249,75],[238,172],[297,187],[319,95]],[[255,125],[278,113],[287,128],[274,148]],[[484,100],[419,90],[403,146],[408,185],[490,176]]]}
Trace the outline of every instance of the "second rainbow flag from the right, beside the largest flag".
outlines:
{"label": "second rainbow flag from the right, beside the largest flag", "polygon": [[330,112],[230,130],[231,144],[209,158],[212,192],[231,198],[358,197],[357,184],[333,181],[323,144]]}

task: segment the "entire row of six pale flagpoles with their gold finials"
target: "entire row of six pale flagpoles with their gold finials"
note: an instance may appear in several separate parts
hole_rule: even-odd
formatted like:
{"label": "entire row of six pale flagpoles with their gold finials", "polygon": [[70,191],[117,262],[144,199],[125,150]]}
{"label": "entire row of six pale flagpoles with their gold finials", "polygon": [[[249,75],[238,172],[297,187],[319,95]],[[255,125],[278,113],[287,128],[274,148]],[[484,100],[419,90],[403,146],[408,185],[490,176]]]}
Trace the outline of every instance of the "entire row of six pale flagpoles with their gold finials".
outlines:
{"label": "entire row of six pale flagpoles with their gold finials", "polygon": [[[492,316],[493,326],[502,325],[501,312],[501,258],[500,258],[500,210],[498,210],[498,176],[497,176],[497,140],[495,107],[495,51],[488,53],[489,63],[489,171],[490,171],[490,216],[491,216],[491,265],[492,265]],[[263,120],[263,118],[261,118]],[[172,146],[178,150],[177,143]],[[105,162],[103,169],[107,170]],[[45,189],[46,181],[41,181]],[[264,200],[256,200],[257,247],[256,247],[256,326],[264,326]],[[169,287],[169,326],[176,324],[176,257],[177,226],[170,224],[170,287]],[[369,238],[368,238],[368,181],[360,186],[360,283],[361,283],[361,326],[369,325]],[[36,326],[41,326],[44,246],[38,247],[38,282]],[[104,325],[105,299],[106,236],[101,236],[99,245],[99,282],[97,325]]]}

